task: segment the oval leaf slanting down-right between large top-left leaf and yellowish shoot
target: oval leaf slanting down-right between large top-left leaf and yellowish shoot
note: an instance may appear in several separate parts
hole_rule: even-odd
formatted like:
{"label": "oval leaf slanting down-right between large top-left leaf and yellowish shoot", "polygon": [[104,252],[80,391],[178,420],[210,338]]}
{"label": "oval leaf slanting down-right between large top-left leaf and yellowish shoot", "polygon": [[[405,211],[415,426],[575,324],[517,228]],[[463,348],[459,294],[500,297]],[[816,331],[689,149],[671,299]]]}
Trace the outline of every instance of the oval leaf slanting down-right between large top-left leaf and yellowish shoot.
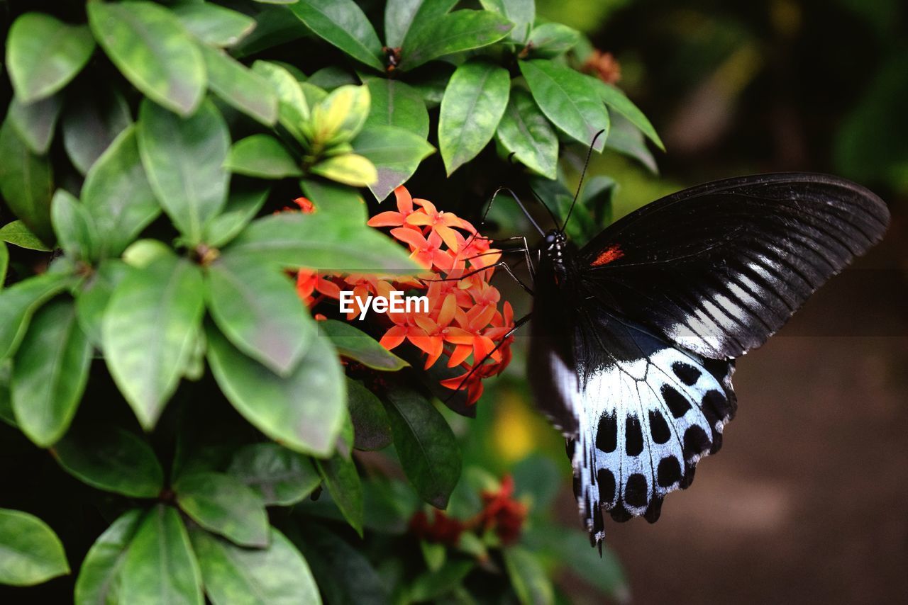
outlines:
{"label": "oval leaf slanting down-right between large top-left leaf and yellowish shoot", "polygon": [[271,84],[222,50],[204,44],[199,48],[205,60],[209,88],[233,109],[273,126],[278,120],[278,97]]}

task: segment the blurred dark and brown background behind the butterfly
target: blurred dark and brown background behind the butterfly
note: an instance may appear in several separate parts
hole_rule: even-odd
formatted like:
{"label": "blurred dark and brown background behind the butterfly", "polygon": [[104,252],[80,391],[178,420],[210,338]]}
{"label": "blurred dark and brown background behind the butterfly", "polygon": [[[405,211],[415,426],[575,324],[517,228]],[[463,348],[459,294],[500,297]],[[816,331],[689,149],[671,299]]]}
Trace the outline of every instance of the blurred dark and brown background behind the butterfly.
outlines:
{"label": "blurred dark and brown background behind the butterfly", "polygon": [[[635,602],[888,602],[908,595],[908,5],[899,0],[538,0],[666,142],[658,174],[606,152],[616,216],[701,181],[824,171],[893,211],[883,243],[738,364],[739,410],[654,525],[607,525]],[[644,160],[646,161],[646,160]],[[500,283],[503,285],[505,280]],[[520,298],[517,292],[509,299]],[[519,339],[518,339],[519,340]],[[470,454],[569,464],[523,367],[489,381]],[[483,403],[487,405],[482,405]],[[489,457],[483,464],[488,466]],[[538,460],[531,458],[530,460]],[[537,468],[541,468],[541,462]],[[548,462],[545,464],[549,464]],[[558,515],[577,523],[568,481]],[[518,481],[519,485],[519,481]],[[596,593],[571,578],[577,602]]]}

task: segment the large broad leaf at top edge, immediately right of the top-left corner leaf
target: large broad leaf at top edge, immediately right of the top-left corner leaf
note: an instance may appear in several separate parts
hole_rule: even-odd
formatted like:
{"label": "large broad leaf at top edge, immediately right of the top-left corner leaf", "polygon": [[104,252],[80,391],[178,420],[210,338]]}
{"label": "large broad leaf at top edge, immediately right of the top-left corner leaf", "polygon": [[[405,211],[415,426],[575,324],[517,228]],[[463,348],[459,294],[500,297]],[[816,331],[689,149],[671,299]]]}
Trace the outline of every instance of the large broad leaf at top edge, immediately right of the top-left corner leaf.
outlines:
{"label": "large broad leaf at top edge, immediately right of the top-left corner leaf", "polygon": [[132,0],[92,2],[87,11],[95,39],[127,80],[173,112],[195,112],[204,97],[205,64],[171,11]]}

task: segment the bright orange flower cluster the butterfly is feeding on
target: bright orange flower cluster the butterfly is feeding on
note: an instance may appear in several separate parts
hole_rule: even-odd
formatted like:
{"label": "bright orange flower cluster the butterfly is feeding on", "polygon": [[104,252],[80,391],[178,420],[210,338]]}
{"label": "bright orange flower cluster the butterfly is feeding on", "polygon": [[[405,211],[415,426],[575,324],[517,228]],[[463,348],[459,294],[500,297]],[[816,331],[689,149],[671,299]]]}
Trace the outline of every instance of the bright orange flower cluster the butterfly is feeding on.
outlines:
{"label": "bright orange flower cluster the butterfly is feeding on", "polygon": [[[311,307],[324,298],[340,298],[341,289],[352,290],[361,304],[370,295],[390,297],[392,290],[428,297],[429,313],[385,313],[388,326],[380,343],[392,350],[409,341],[425,353],[427,369],[447,357],[449,367],[459,366],[464,372],[441,385],[466,388],[469,403],[476,403],[482,379],[500,374],[511,356],[512,339],[501,340],[514,327],[514,311],[507,301],[499,309],[501,295],[489,284],[500,252],[491,249],[489,240],[468,221],[438,210],[429,200],[413,199],[402,186],[394,195],[397,210],[381,212],[368,224],[392,228],[390,235],[410,248],[410,258],[427,273],[418,278],[331,276],[301,269],[297,292]],[[303,211],[314,210],[305,198],[296,202]]]}

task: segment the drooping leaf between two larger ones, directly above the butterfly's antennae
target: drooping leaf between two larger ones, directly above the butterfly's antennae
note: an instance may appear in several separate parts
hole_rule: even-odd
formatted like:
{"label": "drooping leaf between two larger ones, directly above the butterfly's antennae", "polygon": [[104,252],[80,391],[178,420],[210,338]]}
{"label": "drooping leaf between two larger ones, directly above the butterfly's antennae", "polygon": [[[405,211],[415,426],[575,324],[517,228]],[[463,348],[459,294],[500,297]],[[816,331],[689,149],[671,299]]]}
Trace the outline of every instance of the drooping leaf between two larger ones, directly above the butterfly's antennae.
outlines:
{"label": "drooping leaf between two larger ones, directly above the butterfly's antennae", "polygon": [[528,168],[547,179],[558,176],[558,136],[522,88],[511,92],[508,109],[498,123],[498,141]]}

